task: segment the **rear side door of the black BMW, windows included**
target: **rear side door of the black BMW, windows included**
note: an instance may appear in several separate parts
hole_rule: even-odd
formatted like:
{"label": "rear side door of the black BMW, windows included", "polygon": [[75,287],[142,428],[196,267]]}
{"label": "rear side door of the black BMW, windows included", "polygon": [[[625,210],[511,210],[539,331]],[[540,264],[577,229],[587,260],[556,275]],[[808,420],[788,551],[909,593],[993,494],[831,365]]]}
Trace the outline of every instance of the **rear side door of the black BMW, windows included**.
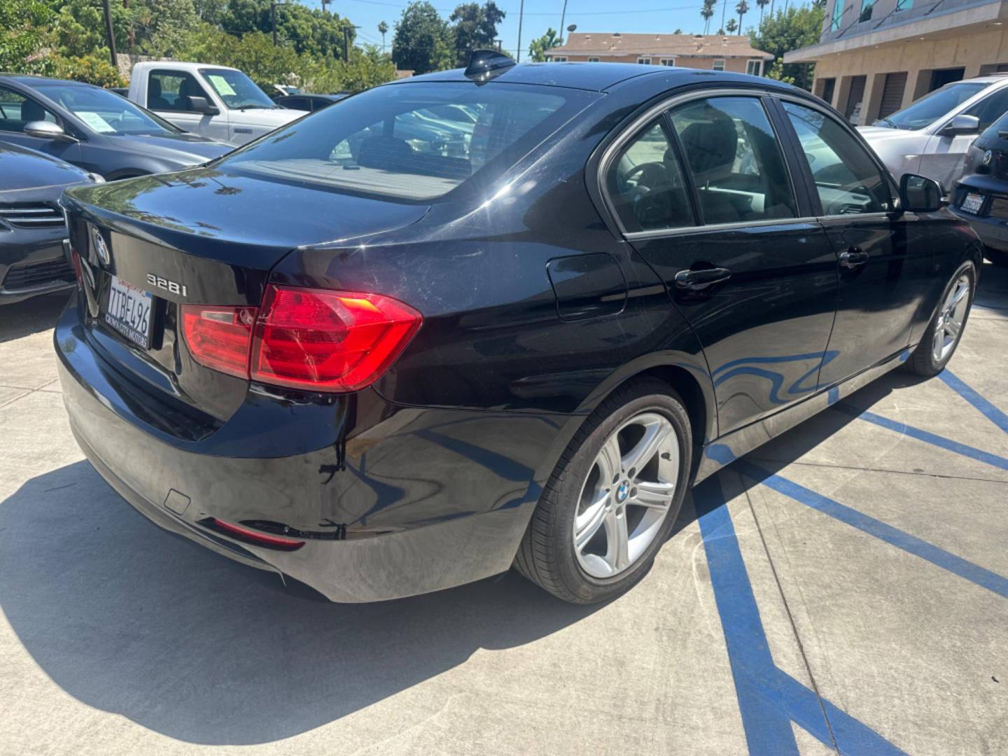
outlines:
{"label": "rear side door of the black BMW, windows included", "polygon": [[815,390],[835,313],[836,256],[803,217],[766,108],[679,98],[606,168],[626,237],[704,346],[721,434]]}

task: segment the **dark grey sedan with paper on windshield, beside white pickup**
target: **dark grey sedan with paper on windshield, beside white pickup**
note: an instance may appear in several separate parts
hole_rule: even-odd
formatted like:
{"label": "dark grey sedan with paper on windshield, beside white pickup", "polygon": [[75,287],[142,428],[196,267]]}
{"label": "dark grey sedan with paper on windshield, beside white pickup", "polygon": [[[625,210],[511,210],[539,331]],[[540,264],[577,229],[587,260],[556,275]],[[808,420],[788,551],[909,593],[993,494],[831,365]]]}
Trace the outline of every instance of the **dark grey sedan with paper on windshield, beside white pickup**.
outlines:
{"label": "dark grey sedan with paper on windshield, beside white pickup", "polygon": [[101,87],[28,76],[0,76],[0,139],[110,181],[177,170],[234,149],[185,134]]}

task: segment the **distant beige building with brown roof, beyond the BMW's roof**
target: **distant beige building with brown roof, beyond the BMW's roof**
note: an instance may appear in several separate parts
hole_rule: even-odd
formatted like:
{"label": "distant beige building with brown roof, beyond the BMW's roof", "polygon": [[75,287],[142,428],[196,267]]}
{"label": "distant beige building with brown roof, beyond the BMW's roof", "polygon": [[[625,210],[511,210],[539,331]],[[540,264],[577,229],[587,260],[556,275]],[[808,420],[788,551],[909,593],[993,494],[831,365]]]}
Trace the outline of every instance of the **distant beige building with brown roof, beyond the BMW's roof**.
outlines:
{"label": "distant beige building with brown roof, beyond the BMW's roof", "polygon": [[747,35],[719,34],[622,34],[616,32],[571,32],[566,41],[546,53],[557,62],[633,62],[681,66],[687,69],[734,71],[763,75],[773,59],[769,52],[753,49]]}

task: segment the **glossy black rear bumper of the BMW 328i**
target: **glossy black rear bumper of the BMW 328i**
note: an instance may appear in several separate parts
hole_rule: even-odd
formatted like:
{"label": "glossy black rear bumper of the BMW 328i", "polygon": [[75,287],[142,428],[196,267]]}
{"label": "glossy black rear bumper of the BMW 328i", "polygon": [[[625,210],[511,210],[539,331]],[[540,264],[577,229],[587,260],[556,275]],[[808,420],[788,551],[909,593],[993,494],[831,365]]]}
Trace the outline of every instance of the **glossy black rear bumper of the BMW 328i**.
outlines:
{"label": "glossy black rear bumper of the BMW 328i", "polygon": [[[201,443],[176,445],[130,415],[123,377],[91,349],[73,303],[54,341],[74,434],[123,498],[161,527],[338,602],[422,594],[508,570],[572,424],[389,405],[347,440],[345,469],[332,447],[203,454]],[[207,517],[284,523],[306,537],[279,551],[209,531],[200,524]]]}

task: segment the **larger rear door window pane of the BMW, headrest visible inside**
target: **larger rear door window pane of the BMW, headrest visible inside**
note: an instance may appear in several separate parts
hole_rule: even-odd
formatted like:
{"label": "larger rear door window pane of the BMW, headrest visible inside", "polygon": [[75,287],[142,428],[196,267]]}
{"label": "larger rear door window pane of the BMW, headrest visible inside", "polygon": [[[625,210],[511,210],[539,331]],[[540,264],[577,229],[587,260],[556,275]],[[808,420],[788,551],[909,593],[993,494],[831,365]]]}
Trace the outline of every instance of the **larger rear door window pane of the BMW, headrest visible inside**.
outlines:
{"label": "larger rear door window pane of the BMW, headrest visible inside", "polygon": [[707,98],[678,108],[671,120],[705,224],[795,217],[780,144],[759,100]]}

